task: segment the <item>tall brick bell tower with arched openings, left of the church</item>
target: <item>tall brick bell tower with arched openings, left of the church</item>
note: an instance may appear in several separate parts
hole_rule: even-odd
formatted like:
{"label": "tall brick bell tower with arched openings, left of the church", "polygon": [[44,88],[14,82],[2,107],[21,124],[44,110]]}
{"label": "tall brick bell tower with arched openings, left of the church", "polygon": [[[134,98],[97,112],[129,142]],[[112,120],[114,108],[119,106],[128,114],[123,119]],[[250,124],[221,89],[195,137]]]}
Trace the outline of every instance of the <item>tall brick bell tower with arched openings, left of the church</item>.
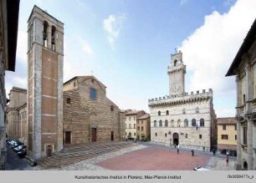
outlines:
{"label": "tall brick bell tower with arched openings, left of the church", "polygon": [[28,155],[63,149],[64,23],[33,7],[28,18]]}

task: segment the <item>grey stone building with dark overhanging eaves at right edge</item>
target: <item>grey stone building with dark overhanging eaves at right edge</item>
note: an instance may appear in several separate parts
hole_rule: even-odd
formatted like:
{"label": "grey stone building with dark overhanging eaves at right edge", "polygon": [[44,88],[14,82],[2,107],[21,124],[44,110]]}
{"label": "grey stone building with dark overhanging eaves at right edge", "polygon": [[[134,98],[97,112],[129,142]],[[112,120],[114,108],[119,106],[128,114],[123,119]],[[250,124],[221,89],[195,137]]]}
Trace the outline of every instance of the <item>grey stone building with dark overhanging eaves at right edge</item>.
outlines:
{"label": "grey stone building with dark overhanging eaves at right edge", "polygon": [[236,76],[237,170],[256,170],[256,19],[226,76]]}

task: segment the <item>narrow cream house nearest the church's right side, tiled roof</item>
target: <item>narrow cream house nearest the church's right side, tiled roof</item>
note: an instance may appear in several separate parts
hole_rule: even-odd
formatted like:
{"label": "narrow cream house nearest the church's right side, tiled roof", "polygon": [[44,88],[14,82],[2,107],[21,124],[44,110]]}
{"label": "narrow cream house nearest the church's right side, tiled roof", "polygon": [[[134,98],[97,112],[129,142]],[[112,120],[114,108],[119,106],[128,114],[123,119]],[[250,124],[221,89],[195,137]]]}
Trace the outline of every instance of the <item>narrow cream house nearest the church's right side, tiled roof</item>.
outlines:
{"label": "narrow cream house nearest the church's right side, tiled roof", "polygon": [[137,119],[146,114],[144,110],[126,110],[125,112],[125,139],[136,140]]}

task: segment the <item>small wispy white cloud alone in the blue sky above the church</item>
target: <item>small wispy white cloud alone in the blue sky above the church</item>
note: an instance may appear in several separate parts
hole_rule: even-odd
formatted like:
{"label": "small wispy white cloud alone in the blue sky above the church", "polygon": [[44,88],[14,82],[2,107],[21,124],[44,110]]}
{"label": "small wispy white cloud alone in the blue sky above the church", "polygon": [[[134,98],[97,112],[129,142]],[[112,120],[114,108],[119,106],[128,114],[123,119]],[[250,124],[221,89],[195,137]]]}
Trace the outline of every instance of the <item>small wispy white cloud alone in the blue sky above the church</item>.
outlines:
{"label": "small wispy white cloud alone in the blue sky above the church", "polygon": [[125,15],[112,15],[103,21],[103,29],[107,33],[107,40],[110,43],[110,47],[115,49],[115,40],[119,38],[120,30],[125,21]]}

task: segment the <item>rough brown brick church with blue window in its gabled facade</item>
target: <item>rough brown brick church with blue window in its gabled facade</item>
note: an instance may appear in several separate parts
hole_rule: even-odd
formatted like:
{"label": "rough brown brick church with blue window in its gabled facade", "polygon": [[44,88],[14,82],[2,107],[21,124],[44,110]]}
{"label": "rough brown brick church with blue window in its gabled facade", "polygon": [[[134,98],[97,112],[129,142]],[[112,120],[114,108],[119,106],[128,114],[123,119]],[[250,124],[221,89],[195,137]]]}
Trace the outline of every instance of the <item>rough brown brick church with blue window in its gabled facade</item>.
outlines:
{"label": "rough brown brick church with blue window in its gabled facade", "polygon": [[106,97],[106,86],[94,76],[64,83],[64,145],[121,140],[125,114]]}

